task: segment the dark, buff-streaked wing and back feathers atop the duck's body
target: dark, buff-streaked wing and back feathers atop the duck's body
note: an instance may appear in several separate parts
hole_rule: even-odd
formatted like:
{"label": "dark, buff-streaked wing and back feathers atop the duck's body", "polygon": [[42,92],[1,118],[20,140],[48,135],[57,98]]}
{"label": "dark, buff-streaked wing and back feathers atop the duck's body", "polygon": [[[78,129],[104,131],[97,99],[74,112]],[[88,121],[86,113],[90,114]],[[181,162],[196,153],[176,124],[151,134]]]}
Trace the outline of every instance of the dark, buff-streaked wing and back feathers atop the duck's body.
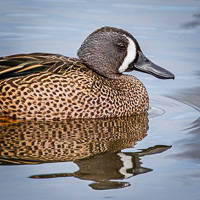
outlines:
{"label": "dark, buff-streaked wing and back feathers atop the duck's body", "polygon": [[[59,54],[16,54],[0,58],[0,79],[25,76],[43,71],[59,71],[69,58]],[[73,62],[73,60],[71,61]]]}

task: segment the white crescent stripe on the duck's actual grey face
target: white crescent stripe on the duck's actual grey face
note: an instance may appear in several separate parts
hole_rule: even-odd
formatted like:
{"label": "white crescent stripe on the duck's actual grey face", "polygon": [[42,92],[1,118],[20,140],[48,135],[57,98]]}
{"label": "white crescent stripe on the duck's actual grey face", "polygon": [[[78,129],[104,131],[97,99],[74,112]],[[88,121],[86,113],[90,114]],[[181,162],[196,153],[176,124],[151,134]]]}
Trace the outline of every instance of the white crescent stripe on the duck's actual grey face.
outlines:
{"label": "white crescent stripe on the duck's actual grey face", "polygon": [[133,62],[135,57],[136,57],[136,46],[135,46],[135,43],[128,36],[126,36],[126,35],[124,35],[124,36],[127,38],[129,43],[128,43],[128,48],[127,48],[127,55],[124,58],[124,61],[123,61],[122,65],[119,67],[119,73],[125,72],[126,69],[129,66],[129,64],[131,62]]}

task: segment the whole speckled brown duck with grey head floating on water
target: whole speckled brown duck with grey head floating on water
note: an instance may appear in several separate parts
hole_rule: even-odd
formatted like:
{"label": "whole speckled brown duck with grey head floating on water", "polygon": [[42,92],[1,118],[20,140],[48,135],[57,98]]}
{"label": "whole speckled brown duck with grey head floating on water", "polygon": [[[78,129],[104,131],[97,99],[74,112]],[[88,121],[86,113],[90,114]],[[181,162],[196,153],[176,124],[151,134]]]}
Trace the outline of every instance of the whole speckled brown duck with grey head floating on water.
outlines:
{"label": "whole speckled brown duck with grey head floating on water", "polygon": [[[174,79],[127,31],[105,26],[89,34],[78,58],[52,53],[0,58],[0,117],[19,120],[113,118],[145,113],[144,84],[125,72]],[[125,74],[124,74],[125,73]]]}

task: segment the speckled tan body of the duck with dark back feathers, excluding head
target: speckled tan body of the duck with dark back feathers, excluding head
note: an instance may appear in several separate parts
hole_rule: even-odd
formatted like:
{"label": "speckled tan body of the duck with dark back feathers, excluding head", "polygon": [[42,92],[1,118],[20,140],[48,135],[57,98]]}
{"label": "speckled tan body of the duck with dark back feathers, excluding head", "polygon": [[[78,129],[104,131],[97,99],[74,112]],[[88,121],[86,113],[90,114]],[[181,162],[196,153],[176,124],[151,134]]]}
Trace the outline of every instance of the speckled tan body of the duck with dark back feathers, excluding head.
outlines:
{"label": "speckled tan body of the duck with dark back feathers, excluding head", "polygon": [[101,61],[94,67],[82,54],[80,59],[43,53],[0,58],[0,116],[60,120],[119,117],[148,110],[144,85],[118,72],[129,71],[130,65],[123,69],[121,63],[119,69],[115,66],[104,73],[95,68]]}

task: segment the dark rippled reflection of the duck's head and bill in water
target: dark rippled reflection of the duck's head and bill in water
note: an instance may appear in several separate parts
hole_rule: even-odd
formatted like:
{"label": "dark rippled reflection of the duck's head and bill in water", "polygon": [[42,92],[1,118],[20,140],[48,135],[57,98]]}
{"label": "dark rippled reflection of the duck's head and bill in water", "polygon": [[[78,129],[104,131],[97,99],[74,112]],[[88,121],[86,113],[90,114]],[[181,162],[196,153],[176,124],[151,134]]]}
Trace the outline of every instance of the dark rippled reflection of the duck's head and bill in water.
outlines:
{"label": "dark rippled reflection of the duck's head and bill in water", "polygon": [[74,173],[40,174],[31,178],[59,178],[76,177],[83,180],[94,181],[89,186],[95,190],[117,189],[130,186],[129,182],[120,180],[152,171],[152,169],[141,166],[140,157],[161,153],[171,146],[158,145],[141,152],[107,152],[96,155],[90,159],[77,160],[79,170]]}

